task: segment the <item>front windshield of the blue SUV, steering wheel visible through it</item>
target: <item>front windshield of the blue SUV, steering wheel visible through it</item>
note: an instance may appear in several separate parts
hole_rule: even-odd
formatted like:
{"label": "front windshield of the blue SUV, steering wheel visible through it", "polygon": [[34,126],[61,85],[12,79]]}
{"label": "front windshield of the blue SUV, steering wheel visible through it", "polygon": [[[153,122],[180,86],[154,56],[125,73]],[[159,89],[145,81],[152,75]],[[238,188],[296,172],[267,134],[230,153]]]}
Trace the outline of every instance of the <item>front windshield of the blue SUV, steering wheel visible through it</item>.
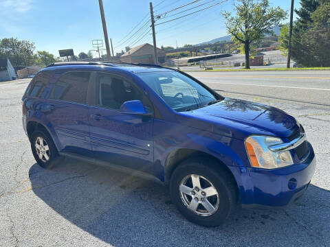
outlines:
{"label": "front windshield of the blue SUV, steering wheel visible through it", "polygon": [[137,73],[173,110],[194,110],[217,102],[203,86],[176,71]]}

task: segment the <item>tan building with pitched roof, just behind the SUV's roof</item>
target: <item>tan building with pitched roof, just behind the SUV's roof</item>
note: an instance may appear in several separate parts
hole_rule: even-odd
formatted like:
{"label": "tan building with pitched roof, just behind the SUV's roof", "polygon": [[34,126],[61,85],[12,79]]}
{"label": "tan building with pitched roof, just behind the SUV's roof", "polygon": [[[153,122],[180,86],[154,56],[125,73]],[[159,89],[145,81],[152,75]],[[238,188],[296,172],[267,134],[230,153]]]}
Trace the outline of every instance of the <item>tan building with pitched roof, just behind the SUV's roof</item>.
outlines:
{"label": "tan building with pitched roof, just behind the SUV's roof", "polygon": [[[156,48],[156,51],[158,62],[165,62],[166,52],[159,48]],[[126,51],[126,53],[122,54],[122,56],[120,56],[120,61],[129,63],[154,64],[153,53],[153,45],[144,43],[142,45],[137,45],[137,47],[133,47],[129,51]]]}

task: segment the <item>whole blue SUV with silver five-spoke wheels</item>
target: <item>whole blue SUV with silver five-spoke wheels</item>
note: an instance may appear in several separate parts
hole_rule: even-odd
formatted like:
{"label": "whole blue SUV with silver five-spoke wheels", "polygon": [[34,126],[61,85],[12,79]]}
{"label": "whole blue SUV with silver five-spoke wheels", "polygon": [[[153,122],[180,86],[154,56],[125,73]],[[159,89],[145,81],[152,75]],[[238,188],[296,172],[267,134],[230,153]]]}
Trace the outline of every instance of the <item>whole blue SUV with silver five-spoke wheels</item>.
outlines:
{"label": "whole blue SUV with silver five-spoke wheels", "polygon": [[41,167],[69,156],[153,178],[203,226],[238,204],[289,204],[316,168],[294,117],[151,64],[50,64],[25,91],[23,128]]}

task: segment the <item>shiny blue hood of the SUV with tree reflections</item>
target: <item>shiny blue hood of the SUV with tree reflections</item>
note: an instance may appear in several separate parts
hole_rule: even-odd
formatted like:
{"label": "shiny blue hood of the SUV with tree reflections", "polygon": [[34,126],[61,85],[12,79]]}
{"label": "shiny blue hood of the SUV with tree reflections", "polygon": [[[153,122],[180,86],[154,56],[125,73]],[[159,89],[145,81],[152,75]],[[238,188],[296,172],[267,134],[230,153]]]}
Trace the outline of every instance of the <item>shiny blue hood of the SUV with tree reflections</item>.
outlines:
{"label": "shiny blue hood of the SUV with tree reflections", "polygon": [[299,128],[296,119],[283,110],[228,97],[217,104],[181,112],[178,120],[186,126],[238,139],[250,134],[289,137]]}

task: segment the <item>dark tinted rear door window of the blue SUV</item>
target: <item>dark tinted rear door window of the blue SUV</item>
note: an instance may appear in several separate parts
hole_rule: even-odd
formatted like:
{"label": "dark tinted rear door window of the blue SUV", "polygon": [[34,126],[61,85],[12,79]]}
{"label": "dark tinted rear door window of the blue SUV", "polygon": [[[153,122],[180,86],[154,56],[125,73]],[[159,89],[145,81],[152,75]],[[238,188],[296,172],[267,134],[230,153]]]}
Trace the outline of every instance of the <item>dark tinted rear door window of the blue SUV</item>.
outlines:
{"label": "dark tinted rear door window of the blue SUV", "polygon": [[55,83],[50,98],[86,104],[90,75],[85,71],[65,73]]}

